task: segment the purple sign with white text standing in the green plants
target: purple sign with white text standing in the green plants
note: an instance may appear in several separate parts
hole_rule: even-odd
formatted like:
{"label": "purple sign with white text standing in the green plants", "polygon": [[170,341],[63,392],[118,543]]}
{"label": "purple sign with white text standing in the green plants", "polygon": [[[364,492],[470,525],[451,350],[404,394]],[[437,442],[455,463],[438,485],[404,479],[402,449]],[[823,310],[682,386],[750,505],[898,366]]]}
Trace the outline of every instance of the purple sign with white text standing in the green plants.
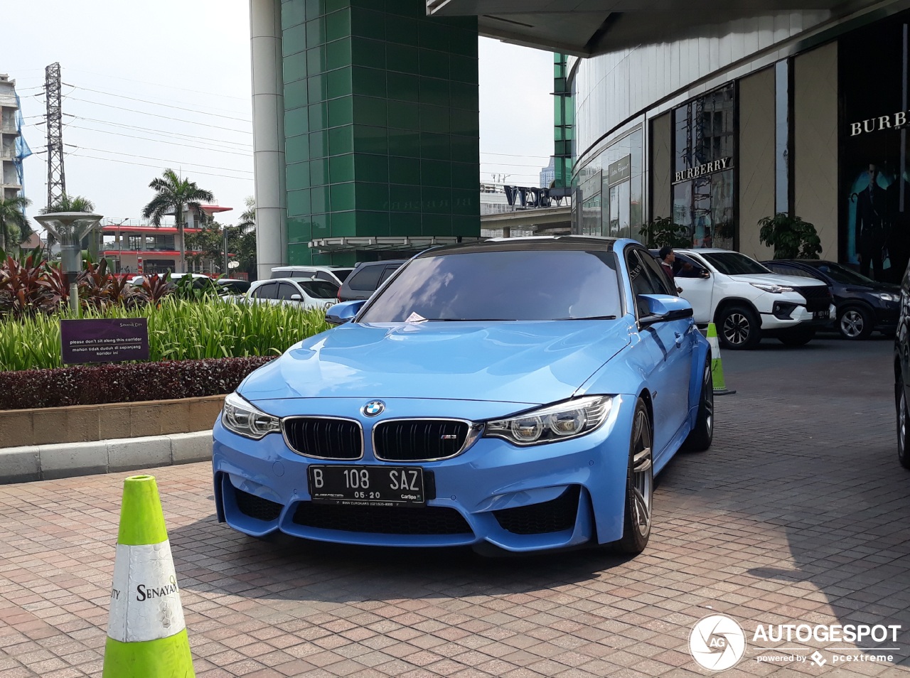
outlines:
{"label": "purple sign with white text standing in the green plants", "polygon": [[60,321],[60,351],[67,364],[148,359],[148,319]]}

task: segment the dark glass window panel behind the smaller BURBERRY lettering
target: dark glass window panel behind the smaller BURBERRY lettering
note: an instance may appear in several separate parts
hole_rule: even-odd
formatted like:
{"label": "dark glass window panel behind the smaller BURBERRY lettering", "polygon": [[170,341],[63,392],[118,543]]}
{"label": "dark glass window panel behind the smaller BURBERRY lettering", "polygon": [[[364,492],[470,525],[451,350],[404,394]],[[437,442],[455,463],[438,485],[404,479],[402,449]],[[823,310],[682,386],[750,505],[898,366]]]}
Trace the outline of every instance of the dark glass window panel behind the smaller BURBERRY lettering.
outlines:
{"label": "dark glass window panel behind the smaller BURBERRY lettering", "polygon": [[736,95],[733,84],[675,108],[672,138],[673,222],[696,248],[734,248]]}

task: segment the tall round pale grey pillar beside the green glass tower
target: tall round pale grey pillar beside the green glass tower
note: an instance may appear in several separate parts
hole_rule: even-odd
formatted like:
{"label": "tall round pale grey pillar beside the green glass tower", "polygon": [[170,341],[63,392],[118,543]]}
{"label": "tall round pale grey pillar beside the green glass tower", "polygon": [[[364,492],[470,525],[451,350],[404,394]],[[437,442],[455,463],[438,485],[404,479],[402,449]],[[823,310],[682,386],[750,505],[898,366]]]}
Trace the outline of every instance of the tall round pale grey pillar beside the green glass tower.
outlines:
{"label": "tall round pale grey pillar beside the green glass tower", "polygon": [[249,0],[258,278],[288,263],[281,0]]}

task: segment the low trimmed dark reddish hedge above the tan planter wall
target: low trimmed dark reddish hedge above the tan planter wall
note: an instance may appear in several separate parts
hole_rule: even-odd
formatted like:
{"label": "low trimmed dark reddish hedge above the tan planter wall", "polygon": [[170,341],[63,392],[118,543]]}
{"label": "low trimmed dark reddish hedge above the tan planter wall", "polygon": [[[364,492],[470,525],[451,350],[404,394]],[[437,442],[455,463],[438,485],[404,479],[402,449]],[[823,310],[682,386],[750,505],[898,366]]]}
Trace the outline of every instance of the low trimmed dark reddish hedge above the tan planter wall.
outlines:
{"label": "low trimmed dark reddish hedge above the tan planter wall", "polygon": [[0,410],[229,393],[275,356],[168,360],[0,372]]}

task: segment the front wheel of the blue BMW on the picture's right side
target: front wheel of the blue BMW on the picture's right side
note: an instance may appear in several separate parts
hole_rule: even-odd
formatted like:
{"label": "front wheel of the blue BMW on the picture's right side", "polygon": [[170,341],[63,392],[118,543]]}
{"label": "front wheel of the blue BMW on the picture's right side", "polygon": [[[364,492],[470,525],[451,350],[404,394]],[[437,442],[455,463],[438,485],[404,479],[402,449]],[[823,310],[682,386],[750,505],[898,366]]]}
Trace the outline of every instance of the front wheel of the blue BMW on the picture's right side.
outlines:
{"label": "front wheel of the blue BMW on the picture's right side", "polygon": [[652,440],[653,430],[648,406],[639,398],[635,403],[635,413],[632,415],[622,539],[615,543],[616,551],[621,553],[630,555],[641,553],[651,536],[654,492]]}

